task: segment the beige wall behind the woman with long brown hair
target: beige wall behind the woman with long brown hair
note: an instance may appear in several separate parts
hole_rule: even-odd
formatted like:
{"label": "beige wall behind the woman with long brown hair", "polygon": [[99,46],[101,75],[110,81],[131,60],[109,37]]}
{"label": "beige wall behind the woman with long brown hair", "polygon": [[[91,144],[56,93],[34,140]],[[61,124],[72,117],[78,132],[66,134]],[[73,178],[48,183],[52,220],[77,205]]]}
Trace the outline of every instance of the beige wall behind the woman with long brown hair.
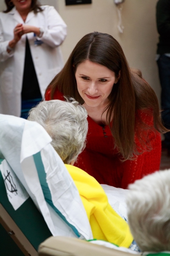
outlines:
{"label": "beige wall behind the woman with long brown hair", "polygon": [[[92,0],[92,4],[74,6],[65,6],[65,0],[54,1],[68,25],[68,36],[62,44],[65,61],[83,35],[93,31],[111,34],[121,44],[130,67],[142,70],[144,78],[160,97],[155,62],[158,41],[155,21],[157,0],[125,0],[122,10],[123,34],[117,29],[118,15],[113,0]],[[45,0],[42,2],[45,3]],[[50,3],[49,0],[46,3]],[[0,10],[3,8],[4,4],[0,1]]]}

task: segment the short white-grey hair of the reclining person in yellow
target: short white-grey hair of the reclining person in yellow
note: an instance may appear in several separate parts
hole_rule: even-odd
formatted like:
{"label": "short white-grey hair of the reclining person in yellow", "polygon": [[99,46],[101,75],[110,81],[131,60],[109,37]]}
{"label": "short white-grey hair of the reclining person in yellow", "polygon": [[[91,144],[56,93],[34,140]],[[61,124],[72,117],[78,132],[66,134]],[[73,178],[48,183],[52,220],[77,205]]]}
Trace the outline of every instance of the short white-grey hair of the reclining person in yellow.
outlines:
{"label": "short white-grey hair of the reclining person in yellow", "polygon": [[87,111],[74,99],[71,102],[50,100],[40,102],[29,111],[28,120],[36,121],[52,138],[51,145],[64,163],[74,163],[85,148],[88,132]]}

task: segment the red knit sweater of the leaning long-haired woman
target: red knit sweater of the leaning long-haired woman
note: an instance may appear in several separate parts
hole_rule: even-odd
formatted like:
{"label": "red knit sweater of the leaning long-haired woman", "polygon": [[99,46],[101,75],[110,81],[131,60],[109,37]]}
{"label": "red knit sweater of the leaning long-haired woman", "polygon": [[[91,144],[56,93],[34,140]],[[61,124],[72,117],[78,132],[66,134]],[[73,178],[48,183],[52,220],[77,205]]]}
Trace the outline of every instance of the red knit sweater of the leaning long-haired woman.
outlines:
{"label": "red knit sweater of the leaning long-haired woman", "polygon": [[[45,100],[50,100],[50,91],[47,91]],[[64,100],[63,94],[57,89],[54,99]],[[150,115],[139,112],[142,121],[153,122]],[[147,131],[145,131],[147,133]],[[151,151],[145,151],[135,160],[120,160],[120,154],[114,148],[114,138],[108,125],[98,125],[88,116],[88,135],[86,148],[79,155],[75,166],[93,176],[100,184],[108,184],[123,189],[135,180],[159,170],[161,159],[161,136],[157,131],[150,131],[148,137]],[[136,145],[140,143],[136,140]]]}

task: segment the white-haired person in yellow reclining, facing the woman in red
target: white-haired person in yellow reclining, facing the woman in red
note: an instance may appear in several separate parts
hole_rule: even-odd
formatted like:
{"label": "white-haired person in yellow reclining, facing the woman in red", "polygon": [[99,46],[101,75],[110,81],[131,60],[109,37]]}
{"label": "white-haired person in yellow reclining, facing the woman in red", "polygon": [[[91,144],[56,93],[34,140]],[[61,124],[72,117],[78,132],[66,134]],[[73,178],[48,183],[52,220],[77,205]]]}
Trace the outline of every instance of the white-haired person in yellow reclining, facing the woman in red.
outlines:
{"label": "white-haired person in yellow reclining, facing the woman in red", "polygon": [[[108,204],[108,198],[94,177],[72,166],[83,150],[88,131],[87,111],[78,102],[40,102],[29,112],[28,120],[42,125],[79,191],[91,224],[94,239],[129,247],[133,237],[128,224]],[[45,198],[52,205],[51,198]]]}

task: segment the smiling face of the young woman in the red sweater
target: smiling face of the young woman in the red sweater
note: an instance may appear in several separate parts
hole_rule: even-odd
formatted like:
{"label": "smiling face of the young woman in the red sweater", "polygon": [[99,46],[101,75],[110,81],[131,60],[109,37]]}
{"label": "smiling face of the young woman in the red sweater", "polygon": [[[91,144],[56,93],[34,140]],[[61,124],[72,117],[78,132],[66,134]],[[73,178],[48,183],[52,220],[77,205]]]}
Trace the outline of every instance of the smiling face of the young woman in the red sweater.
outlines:
{"label": "smiling face of the young woman in the red sweater", "polygon": [[78,65],[75,76],[78,92],[89,107],[105,107],[113,84],[119,80],[113,71],[89,60]]}

